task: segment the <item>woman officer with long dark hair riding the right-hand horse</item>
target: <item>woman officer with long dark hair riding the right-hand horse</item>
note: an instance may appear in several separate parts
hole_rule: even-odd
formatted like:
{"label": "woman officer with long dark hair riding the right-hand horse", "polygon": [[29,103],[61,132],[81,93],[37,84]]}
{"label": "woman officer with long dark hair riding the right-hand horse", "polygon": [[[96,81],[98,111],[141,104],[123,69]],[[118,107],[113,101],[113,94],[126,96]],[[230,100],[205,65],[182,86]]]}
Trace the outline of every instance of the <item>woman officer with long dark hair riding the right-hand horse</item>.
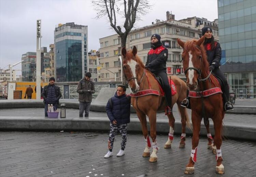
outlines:
{"label": "woman officer with long dark hair riding the right-hand horse", "polygon": [[[225,75],[222,73],[222,71],[219,69],[219,66],[221,64],[219,63],[221,61],[221,45],[217,42],[214,41],[214,37],[212,35],[212,29],[208,26],[205,26],[202,28],[202,36],[205,36],[203,46],[206,50],[207,53],[207,60],[209,63],[209,70],[212,71],[214,75],[217,77],[221,78],[223,81],[223,87],[222,87],[222,92],[223,92],[223,101],[224,101],[224,108],[225,111],[231,111],[233,110],[232,104],[229,102],[229,86],[228,86],[228,81],[225,77]],[[187,106],[186,101],[183,101],[181,103],[182,106]]]}

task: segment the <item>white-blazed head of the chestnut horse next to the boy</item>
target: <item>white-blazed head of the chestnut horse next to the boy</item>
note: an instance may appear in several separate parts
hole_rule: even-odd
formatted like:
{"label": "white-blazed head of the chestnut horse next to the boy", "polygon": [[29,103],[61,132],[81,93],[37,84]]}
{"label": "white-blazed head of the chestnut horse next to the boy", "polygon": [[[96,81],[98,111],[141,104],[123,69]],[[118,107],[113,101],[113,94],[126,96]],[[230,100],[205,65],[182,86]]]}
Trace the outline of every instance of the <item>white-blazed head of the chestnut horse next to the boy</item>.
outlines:
{"label": "white-blazed head of the chestnut horse next to the boy", "polygon": [[124,47],[122,49],[123,55],[123,70],[126,77],[126,82],[132,93],[137,93],[140,86],[137,82],[138,80],[138,69],[139,64],[137,63],[137,48],[134,46],[132,50],[127,51]]}

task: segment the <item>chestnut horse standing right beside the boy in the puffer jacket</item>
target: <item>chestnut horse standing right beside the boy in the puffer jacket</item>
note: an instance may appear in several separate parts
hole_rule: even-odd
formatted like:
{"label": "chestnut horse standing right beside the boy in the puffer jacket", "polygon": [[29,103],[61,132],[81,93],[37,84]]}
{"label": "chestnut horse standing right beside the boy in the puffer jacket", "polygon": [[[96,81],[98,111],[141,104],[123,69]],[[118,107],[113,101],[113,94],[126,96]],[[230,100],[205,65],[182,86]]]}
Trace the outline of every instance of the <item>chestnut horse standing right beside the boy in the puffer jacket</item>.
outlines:
{"label": "chestnut horse standing right beside the boy in the puffer jacket", "polygon": [[[127,83],[131,90],[131,93],[138,93],[143,90],[154,90],[158,93],[160,92],[159,84],[155,79],[155,76],[148,70],[145,69],[141,59],[138,57],[137,49],[134,46],[132,51],[126,51],[125,48],[122,49],[123,55],[123,69],[125,76],[127,78]],[[182,107],[180,103],[183,99],[186,98],[186,83],[182,81],[180,78],[176,76],[172,76],[172,80],[176,86],[176,94],[172,95],[172,107],[175,103],[177,103],[179,112],[181,115],[181,123],[182,123],[182,134],[180,141],[180,148],[185,147],[185,131],[186,131],[186,123],[188,127],[191,128],[188,114],[186,108]],[[157,161],[157,152],[158,146],[156,142],[156,113],[158,110],[165,110],[166,102],[163,102],[163,96],[156,94],[147,94],[140,97],[132,97],[131,104],[137,112],[138,118],[140,120],[142,126],[142,132],[145,139],[146,147],[143,152],[143,157],[149,157],[150,162]],[[147,130],[147,121],[146,115],[148,116],[150,122],[150,136],[152,138],[153,151],[151,152],[151,143],[148,137]],[[165,144],[165,148],[171,148],[171,143],[173,141],[173,133],[174,133],[174,117],[173,114],[168,115],[169,119],[169,136],[168,140]]]}

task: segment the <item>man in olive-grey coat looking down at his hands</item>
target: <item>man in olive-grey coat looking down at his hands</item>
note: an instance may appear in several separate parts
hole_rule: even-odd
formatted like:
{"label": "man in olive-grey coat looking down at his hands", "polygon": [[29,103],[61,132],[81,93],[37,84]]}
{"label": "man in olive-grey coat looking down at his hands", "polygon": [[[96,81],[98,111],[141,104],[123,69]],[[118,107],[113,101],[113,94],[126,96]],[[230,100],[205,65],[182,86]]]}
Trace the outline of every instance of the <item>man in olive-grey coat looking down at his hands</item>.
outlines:
{"label": "man in olive-grey coat looking down at his hands", "polygon": [[83,117],[84,111],[84,116],[89,117],[92,94],[95,93],[94,82],[91,81],[90,72],[87,72],[85,77],[79,81],[76,91],[79,93],[79,117]]}

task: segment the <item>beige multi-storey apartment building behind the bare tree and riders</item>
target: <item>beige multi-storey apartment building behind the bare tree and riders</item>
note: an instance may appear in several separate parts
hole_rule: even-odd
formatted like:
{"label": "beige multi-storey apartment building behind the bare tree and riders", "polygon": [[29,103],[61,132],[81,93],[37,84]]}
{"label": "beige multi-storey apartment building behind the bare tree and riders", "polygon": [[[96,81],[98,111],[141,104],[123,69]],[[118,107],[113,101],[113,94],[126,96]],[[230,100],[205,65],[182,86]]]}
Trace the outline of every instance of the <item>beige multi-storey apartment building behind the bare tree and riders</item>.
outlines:
{"label": "beige multi-storey apartment building behind the bare tree and riders", "polygon": [[[181,63],[183,49],[177,44],[177,38],[183,41],[201,37],[201,26],[196,26],[192,20],[175,20],[175,15],[166,12],[166,21],[156,20],[151,25],[132,30],[127,36],[126,48],[137,47],[137,55],[146,63],[147,53],[151,49],[151,36],[161,35],[163,45],[168,49],[167,74],[178,75],[185,79]],[[217,20],[215,20],[217,22]],[[212,22],[213,23],[213,22]],[[214,24],[218,25],[218,24]],[[217,28],[215,28],[217,30]],[[217,33],[215,33],[217,34]],[[216,35],[214,35],[217,38]],[[121,81],[120,37],[115,34],[100,38],[100,79],[101,81]]]}

